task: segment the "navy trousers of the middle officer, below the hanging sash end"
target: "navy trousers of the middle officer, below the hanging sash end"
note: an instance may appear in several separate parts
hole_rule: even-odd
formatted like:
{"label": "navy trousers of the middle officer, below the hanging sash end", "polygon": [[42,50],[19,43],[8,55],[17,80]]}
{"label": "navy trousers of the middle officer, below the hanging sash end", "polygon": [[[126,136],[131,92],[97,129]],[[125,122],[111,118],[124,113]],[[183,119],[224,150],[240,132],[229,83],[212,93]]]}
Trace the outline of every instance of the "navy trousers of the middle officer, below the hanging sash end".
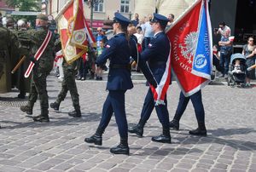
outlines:
{"label": "navy trousers of the middle officer, below the hanging sash end", "polygon": [[167,110],[167,100],[165,98],[165,104],[166,105],[159,105],[154,106],[154,96],[151,91],[151,89],[148,89],[148,94],[145,97],[144,104],[143,104],[143,111],[141,113],[141,120],[143,123],[146,123],[148,121],[148,118],[150,118],[151,113],[154,110],[160,120],[160,123],[163,125],[163,127],[169,127],[169,112]]}

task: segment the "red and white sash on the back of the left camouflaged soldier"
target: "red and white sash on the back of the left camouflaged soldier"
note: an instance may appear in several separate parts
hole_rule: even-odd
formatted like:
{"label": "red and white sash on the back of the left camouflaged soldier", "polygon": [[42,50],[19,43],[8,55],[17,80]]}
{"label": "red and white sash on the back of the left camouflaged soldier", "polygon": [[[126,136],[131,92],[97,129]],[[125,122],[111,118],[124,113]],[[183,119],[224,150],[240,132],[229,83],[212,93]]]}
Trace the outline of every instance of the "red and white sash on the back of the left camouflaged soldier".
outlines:
{"label": "red and white sash on the back of the left camouflaged soldier", "polygon": [[[40,57],[44,53],[44,50],[46,49],[46,47],[49,43],[49,40],[50,40],[51,36],[52,36],[52,32],[48,31],[46,37],[44,38],[44,42],[42,43],[42,45],[38,49],[37,53],[34,55],[35,60],[38,61],[40,59]],[[29,77],[30,76],[30,74],[32,72],[32,69],[33,69],[33,66],[35,66],[35,63],[31,61],[29,66],[26,69],[24,77]]]}

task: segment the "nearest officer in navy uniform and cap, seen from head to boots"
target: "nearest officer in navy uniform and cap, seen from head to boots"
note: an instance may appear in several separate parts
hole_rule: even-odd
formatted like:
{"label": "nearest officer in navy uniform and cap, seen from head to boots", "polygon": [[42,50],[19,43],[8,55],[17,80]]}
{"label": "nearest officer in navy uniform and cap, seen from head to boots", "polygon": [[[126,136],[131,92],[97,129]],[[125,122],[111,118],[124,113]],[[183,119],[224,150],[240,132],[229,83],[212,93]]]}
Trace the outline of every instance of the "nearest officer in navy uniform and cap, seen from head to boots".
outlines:
{"label": "nearest officer in navy uniform and cap, seen from head to boots", "polygon": [[131,66],[129,64],[131,55],[129,49],[130,40],[127,34],[127,26],[130,22],[123,15],[114,14],[113,32],[115,36],[108,41],[106,49],[96,60],[97,65],[102,65],[108,59],[110,60],[107,83],[108,97],[103,105],[102,119],[96,129],[96,134],[84,140],[87,143],[102,145],[102,134],[114,112],[119,129],[120,144],[111,148],[110,152],[127,155],[129,155],[129,146],[128,126],[125,115],[125,92],[127,89],[133,88]]}

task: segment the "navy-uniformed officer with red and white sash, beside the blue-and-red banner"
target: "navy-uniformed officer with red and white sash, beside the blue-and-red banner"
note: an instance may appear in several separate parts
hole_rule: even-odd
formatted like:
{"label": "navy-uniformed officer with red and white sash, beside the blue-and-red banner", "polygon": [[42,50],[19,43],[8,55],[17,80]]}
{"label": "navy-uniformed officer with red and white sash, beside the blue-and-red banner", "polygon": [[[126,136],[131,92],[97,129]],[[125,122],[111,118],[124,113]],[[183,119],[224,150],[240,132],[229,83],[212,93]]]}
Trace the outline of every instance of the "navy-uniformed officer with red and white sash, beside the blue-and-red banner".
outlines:
{"label": "navy-uniformed officer with red and white sash, beside the blue-and-red banner", "polygon": [[[154,79],[157,83],[160,83],[160,79],[166,70],[166,61],[168,60],[170,52],[170,42],[164,32],[168,19],[161,14],[154,14],[154,20],[152,22],[154,37],[150,40],[148,48],[145,49],[140,55],[139,66],[141,67],[145,77],[148,79],[148,76],[150,76],[150,74],[148,74],[148,70],[146,70],[146,61],[148,61],[148,66],[154,76]],[[152,78],[150,80],[152,82]],[[149,83],[150,80],[148,81]],[[154,106],[154,96],[150,88],[148,89],[148,94],[144,100],[143,110],[141,112],[139,123],[137,123],[135,127],[129,128],[128,131],[130,133],[137,134],[139,137],[142,137],[143,127],[148,121],[148,118],[150,117],[154,107],[160,123],[162,124],[163,134],[152,137],[152,140],[156,142],[171,143],[167,100],[165,98],[165,105]]]}

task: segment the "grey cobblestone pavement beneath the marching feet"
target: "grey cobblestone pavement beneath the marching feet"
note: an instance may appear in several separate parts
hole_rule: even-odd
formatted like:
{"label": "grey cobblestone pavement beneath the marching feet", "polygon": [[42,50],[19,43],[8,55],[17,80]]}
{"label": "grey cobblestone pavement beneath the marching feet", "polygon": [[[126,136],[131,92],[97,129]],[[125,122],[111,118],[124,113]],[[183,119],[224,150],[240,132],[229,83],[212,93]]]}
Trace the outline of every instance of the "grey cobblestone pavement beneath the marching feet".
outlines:
{"label": "grey cobblestone pavement beneath the marching feet", "polygon": [[[61,83],[48,79],[49,102],[55,100]],[[127,91],[128,123],[137,123],[147,92],[143,82]],[[102,104],[108,92],[106,82],[78,82],[83,118],[70,118],[73,110],[70,95],[61,103],[61,111],[49,109],[50,123],[34,123],[20,112],[17,93],[0,94],[0,171],[256,171],[256,87],[229,88],[209,85],[203,89],[207,137],[189,135],[197,123],[191,103],[181,119],[181,129],[172,130],[172,144],[151,141],[161,132],[153,112],[144,129],[144,137],[129,135],[131,155],[113,155],[109,148],[119,143],[115,119],[112,118],[103,146],[84,143],[94,134],[101,118]],[[173,118],[179,95],[177,83],[168,91],[168,109]],[[33,114],[38,115],[37,102]]]}

